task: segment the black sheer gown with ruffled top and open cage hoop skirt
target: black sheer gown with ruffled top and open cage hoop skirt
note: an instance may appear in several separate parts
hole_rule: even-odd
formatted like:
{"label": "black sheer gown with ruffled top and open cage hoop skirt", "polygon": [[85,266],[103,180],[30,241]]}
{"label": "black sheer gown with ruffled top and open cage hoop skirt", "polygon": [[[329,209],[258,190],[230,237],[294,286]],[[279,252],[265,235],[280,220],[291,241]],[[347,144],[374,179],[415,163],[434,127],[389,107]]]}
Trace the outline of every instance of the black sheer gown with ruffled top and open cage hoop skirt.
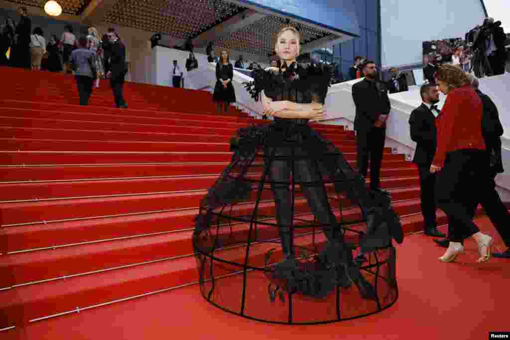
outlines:
{"label": "black sheer gown with ruffled top and open cage hoop skirt", "polygon": [[[284,68],[287,65],[283,66]],[[330,70],[254,71],[258,100],[324,102]],[[202,295],[243,317],[291,324],[369,315],[398,296],[398,216],[374,196],[335,145],[304,119],[241,128],[234,154],[196,217]],[[363,251],[367,261],[353,258]]]}

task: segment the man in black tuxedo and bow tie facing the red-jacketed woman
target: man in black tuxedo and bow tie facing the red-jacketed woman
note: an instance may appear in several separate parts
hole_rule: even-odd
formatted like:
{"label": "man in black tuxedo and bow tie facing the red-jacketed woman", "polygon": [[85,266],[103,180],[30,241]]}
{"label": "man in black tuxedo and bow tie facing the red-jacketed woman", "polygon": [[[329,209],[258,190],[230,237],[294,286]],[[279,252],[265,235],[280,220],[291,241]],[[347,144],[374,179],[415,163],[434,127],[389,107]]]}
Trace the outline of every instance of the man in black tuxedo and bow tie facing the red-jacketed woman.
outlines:
{"label": "man in black tuxedo and bow tie facing the red-jacketed woman", "polygon": [[424,220],[425,235],[444,237],[438,230],[436,220],[436,177],[430,173],[430,165],[437,148],[436,117],[439,113],[439,91],[435,85],[424,84],[420,88],[422,104],[413,110],[409,119],[411,139],[415,141],[416,151],[413,162],[418,166],[420,175],[420,203]]}

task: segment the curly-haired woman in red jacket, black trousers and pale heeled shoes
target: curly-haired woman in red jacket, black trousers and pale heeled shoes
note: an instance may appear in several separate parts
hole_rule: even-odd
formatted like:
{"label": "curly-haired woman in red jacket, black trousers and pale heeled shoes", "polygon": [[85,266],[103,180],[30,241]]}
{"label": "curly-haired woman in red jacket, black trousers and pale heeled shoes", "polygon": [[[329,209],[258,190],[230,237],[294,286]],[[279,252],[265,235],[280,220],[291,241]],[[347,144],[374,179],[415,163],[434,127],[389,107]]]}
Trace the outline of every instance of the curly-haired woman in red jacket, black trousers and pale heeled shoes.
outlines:
{"label": "curly-haired woman in red jacket, black trousers and pale heeled shoes", "polygon": [[453,261],[464,251],[462,241],[473,237],[480,257],[485,262],[491,256],[493,239],[479,231],[473,223],[475,211],[465,207],[476,199],[477,186],[489,166],[486,146],[481,135],[482,103],[470,87],[469,77],[458,66],[441,65],[437,74],[439,89],[447,94],[446,102],[436,119],[438,146],[430,172],[439,172],[438,206],[448,216],[450,245],[439,259]]}

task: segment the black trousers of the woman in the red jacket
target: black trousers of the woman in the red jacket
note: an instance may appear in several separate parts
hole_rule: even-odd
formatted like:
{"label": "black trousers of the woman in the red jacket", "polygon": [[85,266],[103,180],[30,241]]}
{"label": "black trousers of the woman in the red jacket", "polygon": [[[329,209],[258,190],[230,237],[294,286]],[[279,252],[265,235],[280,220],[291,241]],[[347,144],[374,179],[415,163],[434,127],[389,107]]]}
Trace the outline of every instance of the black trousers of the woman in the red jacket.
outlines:
{"label": "black trousers of the woman in the red jacket", "polygon": [[479,195],[482,195],[484,176],[489,160],[484,150],[457,150],[448,152],[443,169],[438,175],[438,206],[448,216],[448,239],[462,242],[479,229],[473,222]]}

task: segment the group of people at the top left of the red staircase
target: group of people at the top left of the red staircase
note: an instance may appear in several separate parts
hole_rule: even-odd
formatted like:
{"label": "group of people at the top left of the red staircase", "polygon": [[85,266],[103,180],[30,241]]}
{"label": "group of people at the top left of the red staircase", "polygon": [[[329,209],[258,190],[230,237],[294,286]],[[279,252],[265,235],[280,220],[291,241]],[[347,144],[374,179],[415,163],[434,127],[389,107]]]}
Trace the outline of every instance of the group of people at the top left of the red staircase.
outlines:
{"label": "group of people at the top left of the red staircase", "polygon": [[32,30],[27,8],[20,7],[18,13],[19,22],[7,18],[0,27],[0,66],[73,74],[81,105],[88,104],[101,78],[110,79],[116,107],[127,108],[123,97],[125,47],[115,29],[99,37],[97,29],[89,27],[87,35],[77,38],[68,24],[60,39],[52,34],[46,42],[40,27]]}

